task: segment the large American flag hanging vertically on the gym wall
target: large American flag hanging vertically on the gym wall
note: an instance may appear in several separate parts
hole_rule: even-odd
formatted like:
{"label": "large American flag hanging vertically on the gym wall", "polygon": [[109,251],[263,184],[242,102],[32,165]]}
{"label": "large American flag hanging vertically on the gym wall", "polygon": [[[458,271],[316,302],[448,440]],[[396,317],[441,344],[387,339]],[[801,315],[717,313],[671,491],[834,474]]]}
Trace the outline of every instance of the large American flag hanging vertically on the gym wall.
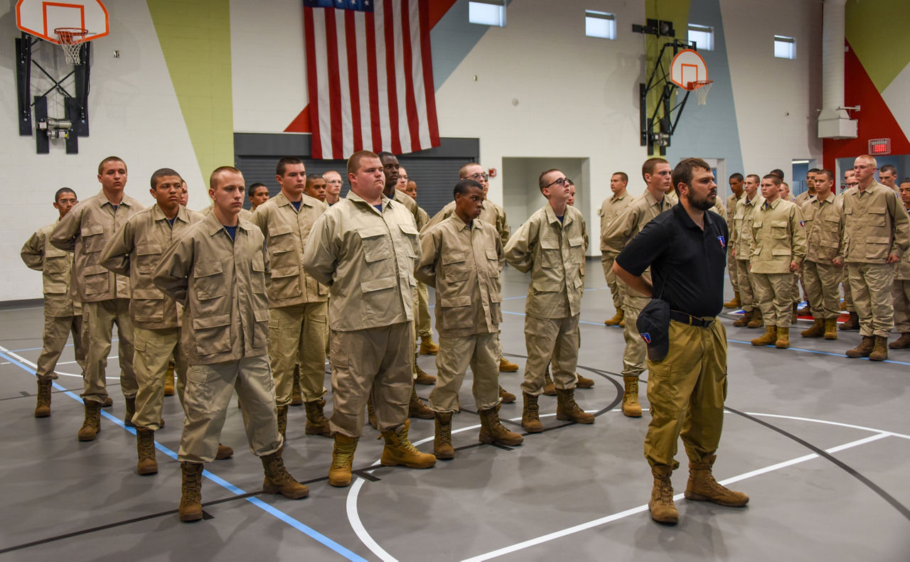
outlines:
{"label": "large American flag hanging vertically on the gym wall", "polygon": [[440,146],[429,0],[304,0],[312,156]]}

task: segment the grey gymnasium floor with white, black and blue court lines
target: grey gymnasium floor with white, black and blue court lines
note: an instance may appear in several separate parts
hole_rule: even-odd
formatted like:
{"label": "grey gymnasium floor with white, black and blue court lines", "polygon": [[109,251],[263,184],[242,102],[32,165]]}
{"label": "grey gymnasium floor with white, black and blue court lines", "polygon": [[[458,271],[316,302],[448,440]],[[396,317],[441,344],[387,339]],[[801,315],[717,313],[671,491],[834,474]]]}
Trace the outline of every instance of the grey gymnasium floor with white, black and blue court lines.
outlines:
{"label": "grey gymnasium floor with white, black and blue court lines", "polygon": [[[877,365],[848,359],[843,352],[858,342],[856,332],[806,340],[796,333],[806,321],[794,326],[791,349],[755,348],[748,340],[759,330],[735,328],[735,316],[725,314],[729,411],[714,473],[752,500],[736,509],[682,499],[687,461],[680,447],[673,485],[682,518],[661,527],[646,507],[651,476],[642,441],[650,418],[617,409],[622,331],[602,324],[613,310],[599,260],[588,271],[579,371],[596,386],[576,398],[597,413],[593,426],[556,422],[555,397],[541,396],[544,433],[521,447],[479,446],[465,386],[454,460],[429,470],[371,467],[381,441],[367,427],[354,462],[359,478],[334,488],[326,482],[331,441],[305,436],[303,408],[292,407],[285,463],[310,489],[292,501],[261,494],[261,465],[231,407],[221,440],[235,457],[207,465],[207,517],[191,525],[177,520],[177,397],[166,398],[167,426],[156,434],[159,472],[139,477],[136,440],[121,423],[116,359],[108,366],[115,404],[103,410],[98,439],[79,443],[81,380],[61,376],[53,415],[35,419],[42,312],[7,306],[0,310],[0,559],[910,558],[910,351],[892,350]],[[507,268],[504,281],[502,346],[523,366],[527,277]],[[61,361],[59,371],[78,374],[72,347]],[[420,356],[420,366],[435,372],[431,356]],[[501,376],[514,393],[520,381],[521,370]],[[418,392],[426,397],[430,386]],[[501,416],[520,420],[520,404],[503,406]],[[432,435],[432,420],[412,420],[410,437],[422,450],[432,450]]]}

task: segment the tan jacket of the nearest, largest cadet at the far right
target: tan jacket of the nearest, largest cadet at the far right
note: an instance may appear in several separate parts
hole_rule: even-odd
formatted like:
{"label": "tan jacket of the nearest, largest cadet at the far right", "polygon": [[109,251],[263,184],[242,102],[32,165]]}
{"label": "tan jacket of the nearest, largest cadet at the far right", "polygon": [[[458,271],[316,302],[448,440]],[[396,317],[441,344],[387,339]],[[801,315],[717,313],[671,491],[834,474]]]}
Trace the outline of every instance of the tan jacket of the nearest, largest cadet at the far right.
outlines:
{"label": "tan jacket of the nearest, largest cadet at the far right", "polygon": [[889,254],[903,256],[910,246],[910,216],[895,190],[872,180],[860,194],[859,187],[844,192],[844,262],[884,264]]}

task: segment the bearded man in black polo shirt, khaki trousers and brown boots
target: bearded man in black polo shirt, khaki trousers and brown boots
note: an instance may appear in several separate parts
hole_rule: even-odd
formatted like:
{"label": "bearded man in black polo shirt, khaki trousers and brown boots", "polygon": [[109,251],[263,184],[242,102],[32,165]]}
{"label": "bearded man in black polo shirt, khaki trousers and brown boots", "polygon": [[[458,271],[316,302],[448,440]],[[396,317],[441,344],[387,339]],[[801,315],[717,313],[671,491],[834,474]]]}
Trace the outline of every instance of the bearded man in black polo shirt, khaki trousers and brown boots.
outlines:
{"label": "bearded man in black polo shirt, khaki trousers and brown boots", "polygon": [[[626,284],[670,304],[669,350],[654,359],[654,350],[648,350],[651,424],[644,437],[644,457],[654,476],[648,507],[655,521],[670,524],[679,520],[670,482],[679,467],[674,459],[679,437],[689,456],[685,497],[731,507],[749,502],[742,492],[718,484],[711,471],[727,390],[726,330],[716,318],[723,310],[727,226],[705,212],[714,206],[717,184],[711,166],[699,158],[676,165],[672,182],[680,204],[644,226],[613,264]],[[648,266],[653,286],[642,277]]]}

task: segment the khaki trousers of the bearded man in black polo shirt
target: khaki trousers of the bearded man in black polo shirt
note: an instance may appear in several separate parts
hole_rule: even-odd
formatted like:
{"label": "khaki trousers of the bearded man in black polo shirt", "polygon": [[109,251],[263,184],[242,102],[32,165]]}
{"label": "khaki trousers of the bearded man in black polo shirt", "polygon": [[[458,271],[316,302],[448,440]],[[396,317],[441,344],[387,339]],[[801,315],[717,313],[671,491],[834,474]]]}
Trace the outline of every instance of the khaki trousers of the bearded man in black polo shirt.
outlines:
{"label": "khaki trousers of the bearded man in black polo shirt", "polygon": [[648,361],[651,423],[644,457],[652,467],[679,467],[682,437],[693,462],[717,450],[727,396],[727,333],[717,319],[706,328],[670,321],[670,353]]}

